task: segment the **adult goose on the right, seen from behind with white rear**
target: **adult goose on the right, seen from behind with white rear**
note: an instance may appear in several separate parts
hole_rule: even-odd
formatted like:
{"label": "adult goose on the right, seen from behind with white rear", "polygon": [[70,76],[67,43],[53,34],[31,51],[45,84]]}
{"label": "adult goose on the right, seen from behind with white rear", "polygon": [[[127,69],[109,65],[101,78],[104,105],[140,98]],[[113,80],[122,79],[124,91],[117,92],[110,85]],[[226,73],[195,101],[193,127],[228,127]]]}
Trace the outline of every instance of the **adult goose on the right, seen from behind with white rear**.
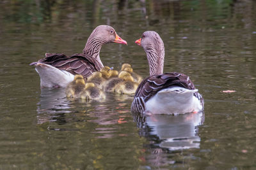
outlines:
{"label": "adult goose on the right, seen from behind with white rear", "polygon": [[164,43],[155,31],[135,41],[147,53],[150,76],[141,81],[131,111],[145,114],[183,114],[204,110],[204,99],[182,73],[163,73]]}

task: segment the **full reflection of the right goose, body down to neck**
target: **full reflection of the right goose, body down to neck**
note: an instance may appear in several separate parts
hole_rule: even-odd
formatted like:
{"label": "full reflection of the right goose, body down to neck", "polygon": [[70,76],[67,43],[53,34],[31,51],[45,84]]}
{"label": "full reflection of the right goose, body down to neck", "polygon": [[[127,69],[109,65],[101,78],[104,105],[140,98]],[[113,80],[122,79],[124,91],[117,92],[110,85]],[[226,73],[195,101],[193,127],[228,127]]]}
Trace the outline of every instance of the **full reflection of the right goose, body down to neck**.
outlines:
{"label": "full reflection of the right goose, body down to neck", "polygon": [[178,166],[182,150],[200,148],[198,126],[204,123],[203,112],[147,117],[134,115],[134,120],[140,127],[140,136],[147,138],[150,143],[147,150],[149,154],[143,159],[152,166]]}

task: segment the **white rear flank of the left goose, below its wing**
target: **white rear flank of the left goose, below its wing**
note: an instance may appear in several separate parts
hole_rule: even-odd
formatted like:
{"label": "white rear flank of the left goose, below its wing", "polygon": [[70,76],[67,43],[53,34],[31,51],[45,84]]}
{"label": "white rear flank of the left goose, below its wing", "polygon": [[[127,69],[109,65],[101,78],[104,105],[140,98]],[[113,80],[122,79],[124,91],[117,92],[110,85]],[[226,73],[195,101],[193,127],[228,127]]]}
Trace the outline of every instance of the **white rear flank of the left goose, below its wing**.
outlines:
{"label": "white rear flank of the left goose, below its wing", "polygon": [[35,70],[40,76],[41,87],[66,87],[74,75],[49,64],[38,63]]}

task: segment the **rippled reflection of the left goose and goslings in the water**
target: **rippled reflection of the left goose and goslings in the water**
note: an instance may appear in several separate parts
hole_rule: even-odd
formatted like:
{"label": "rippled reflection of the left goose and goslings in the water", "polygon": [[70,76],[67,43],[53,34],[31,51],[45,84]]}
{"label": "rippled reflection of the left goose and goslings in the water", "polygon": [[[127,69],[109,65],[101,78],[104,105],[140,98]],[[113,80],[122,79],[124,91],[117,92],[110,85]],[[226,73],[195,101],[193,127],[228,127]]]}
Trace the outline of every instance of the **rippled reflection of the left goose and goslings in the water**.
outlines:
{"label": "rippled reflection of the left goose and goslings in the water", "polygon": [[79,128],[67,129],[60,125],[67,125],[68,122],[90,122],[97,126],[91,130],[93,134],[97,134],[97,138],[112,138],[117,129],[108,125],[125,124],[129,119],[125,114],[130,111],[127,99],[132,100],[132,96],[113,93],[106,93],[106,99],[100,101],[67,99],[65,88],[43,88],[37,104],[37,124],[53,123],[47,127],[52,131],[79,131]]}

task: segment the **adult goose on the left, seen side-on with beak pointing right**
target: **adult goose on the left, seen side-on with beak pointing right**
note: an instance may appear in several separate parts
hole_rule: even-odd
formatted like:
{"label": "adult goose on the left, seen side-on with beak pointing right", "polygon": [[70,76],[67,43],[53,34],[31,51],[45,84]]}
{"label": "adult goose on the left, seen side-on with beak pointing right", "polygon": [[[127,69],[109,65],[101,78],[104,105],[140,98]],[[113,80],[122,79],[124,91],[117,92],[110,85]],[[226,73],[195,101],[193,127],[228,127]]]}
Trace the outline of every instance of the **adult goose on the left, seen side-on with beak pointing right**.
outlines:
{"label": "adult goose on the left, seen side-on with beak pointing right", "polygon": [[100,60],[100,48],[106,43],[127,42],[120,38],[115,29],[109,25],[99,25],[88,38],[83,53],[71,56],[63,53],[45,53],[45,58],[30,65],[35,65],[36,72],[40,76],[41,87],[66,87],[74,80],[75,74],[81,74],[84,78],[94,71],[100,71],[103,64]]}

